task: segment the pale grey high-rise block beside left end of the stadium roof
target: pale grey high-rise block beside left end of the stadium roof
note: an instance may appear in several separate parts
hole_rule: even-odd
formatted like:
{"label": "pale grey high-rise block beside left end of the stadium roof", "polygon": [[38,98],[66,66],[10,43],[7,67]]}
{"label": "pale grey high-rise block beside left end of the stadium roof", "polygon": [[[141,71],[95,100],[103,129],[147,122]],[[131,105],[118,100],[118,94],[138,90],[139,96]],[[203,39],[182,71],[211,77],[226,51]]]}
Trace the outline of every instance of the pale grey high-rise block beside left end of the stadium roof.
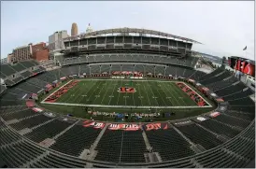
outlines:
{"label": "pale grey high-rise block beside left end of the stadium roof", "polygon": [[67,32],[57,31],[53,35],[49,36],[49,50],[53,51],[55,49],[64,49],[63,39],[68,37]]}

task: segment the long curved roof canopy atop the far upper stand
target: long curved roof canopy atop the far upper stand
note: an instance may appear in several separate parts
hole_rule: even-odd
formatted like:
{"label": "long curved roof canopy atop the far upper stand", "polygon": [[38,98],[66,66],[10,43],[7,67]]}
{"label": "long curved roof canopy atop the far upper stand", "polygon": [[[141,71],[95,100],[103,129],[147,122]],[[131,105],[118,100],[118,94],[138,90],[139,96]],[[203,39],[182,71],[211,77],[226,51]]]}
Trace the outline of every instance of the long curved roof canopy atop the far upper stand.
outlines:
{"label": "long curved roof canopy atop the far upper stand", "polygon": [[159,31],[153,31],[149,29],[139,29],[139,28],[115,28],[115,29],[105,29],[105,30],[100,30],[100,31],[93,31],[91,33],[86,33],[86,34],[81,34],[81,35],[76,35],[76,36],[69,36],[64,38],[64,41],[70,41],[70,40],[75,40],[79,38],[85,38],[87,36],[97,36],[97,35],[104,35],[104,34],[117,34],[117,33],[122,33],[122,34],[127,34],[127,33],[133,33],[133,34],[139,34],[139,35],[159,35],[163,37],[170,37],[170,38],[176,38],[179,40],[184,40],[192,43],[197,43],[197,44],[202,44],[201,42],[192,40],[191,38],[186,38],[186,37],[181,37],[178,35],[171,35]]}

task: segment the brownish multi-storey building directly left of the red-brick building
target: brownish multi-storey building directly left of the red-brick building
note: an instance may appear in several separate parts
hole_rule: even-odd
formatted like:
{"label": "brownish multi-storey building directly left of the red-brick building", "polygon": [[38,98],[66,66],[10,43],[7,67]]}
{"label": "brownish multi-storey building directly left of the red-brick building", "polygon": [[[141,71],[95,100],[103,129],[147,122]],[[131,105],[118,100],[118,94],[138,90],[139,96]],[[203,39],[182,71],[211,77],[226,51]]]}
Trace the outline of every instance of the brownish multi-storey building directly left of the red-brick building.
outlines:
{"label": "brownish multi-storey building directly left of the red-brick building", "polygon": [[11,63],[30,60],[32,56],[32,43],[13,49]]}

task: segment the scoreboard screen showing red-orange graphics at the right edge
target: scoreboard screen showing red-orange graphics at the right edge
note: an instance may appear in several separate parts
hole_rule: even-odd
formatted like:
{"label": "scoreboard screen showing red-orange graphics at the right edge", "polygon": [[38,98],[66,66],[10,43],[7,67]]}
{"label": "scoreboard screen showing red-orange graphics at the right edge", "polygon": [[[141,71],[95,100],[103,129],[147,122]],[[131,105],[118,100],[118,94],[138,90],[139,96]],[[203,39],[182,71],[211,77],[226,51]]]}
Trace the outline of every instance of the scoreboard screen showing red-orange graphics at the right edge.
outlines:
{"label": "scoreboard screen showing red-orange graphics at the right edge", "polygon": [[240,71],[243,74],[249,75],[251,77],[255,76],[255,61],[231,56],[228,58],[228,63],[231,68]]}

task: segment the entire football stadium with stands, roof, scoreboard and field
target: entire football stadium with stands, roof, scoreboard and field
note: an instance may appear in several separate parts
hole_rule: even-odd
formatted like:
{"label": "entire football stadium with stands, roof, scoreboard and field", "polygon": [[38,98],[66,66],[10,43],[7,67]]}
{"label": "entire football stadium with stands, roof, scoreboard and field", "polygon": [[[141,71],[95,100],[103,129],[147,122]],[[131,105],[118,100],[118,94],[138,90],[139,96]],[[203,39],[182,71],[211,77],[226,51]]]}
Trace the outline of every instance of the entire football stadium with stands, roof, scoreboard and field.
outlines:
{"label": "entire football stadium with stands, roof, scoreboard and field", "polygon": [[0,166],[244,168],[254,161],[254,61],[230,56],[215,66],[192,50],[200,42],[148,29],[92,31],[63,43],[50,68],[35,60],[1,64]]}

